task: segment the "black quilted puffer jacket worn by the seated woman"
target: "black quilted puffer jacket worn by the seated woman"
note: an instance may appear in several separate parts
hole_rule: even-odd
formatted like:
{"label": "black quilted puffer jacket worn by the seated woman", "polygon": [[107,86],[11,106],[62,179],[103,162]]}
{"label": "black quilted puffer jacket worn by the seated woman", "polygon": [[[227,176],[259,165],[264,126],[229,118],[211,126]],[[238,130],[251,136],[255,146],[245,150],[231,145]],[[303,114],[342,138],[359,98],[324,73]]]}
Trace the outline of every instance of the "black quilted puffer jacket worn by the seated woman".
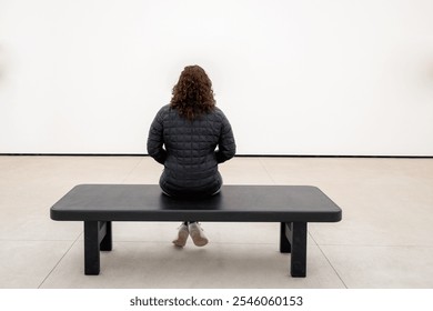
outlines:
{"label": "black quilted puffer jacket worn by the seated woman", "polygon": [[164,165],[160,185],[175,197],[218,191],[222,185],[218,164],[233,158],[235,149],[232,128],[219,108],[190,121],[167,104],[148,138],[149,156]]}

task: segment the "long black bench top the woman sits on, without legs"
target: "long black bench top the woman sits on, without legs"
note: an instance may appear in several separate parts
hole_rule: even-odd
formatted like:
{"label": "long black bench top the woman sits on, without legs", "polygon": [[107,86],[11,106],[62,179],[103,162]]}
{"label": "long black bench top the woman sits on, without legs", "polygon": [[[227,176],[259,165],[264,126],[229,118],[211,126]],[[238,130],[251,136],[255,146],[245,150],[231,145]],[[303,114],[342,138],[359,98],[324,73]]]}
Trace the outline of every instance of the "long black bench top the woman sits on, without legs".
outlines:
{"label": "long black bench top the woman sits on, without legs", "polygon": [[223,185],[204,199],[174,199],[158,184],[80,184],[50,210],[74,221],[336,222],[341,209],[310,185]]}

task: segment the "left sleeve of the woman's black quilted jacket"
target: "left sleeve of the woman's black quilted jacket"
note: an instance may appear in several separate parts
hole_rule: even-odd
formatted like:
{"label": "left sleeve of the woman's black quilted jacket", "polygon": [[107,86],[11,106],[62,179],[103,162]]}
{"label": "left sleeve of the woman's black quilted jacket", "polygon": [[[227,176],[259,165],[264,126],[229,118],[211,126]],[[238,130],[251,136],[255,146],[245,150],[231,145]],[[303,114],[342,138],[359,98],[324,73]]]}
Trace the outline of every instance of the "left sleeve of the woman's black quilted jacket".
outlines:
{"label": "left sleeve of the woman's black quilted jacket", "polygon": [[155,118],[153,119],[152,124],[150,126],[149,137],[148,137],[148,153],[157,162],[163,164],[167,159],[167,151],[163,148],[164,138],[163,138],[163,110],[161,109]]}

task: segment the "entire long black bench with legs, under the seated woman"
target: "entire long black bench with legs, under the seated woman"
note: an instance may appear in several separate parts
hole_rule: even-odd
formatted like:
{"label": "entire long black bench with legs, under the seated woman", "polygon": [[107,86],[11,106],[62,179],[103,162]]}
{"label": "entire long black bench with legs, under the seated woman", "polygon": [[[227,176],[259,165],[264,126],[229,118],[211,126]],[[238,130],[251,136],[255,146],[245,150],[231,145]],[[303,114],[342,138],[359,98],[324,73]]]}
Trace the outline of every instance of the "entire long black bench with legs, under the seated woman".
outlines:
{"label": "entire long black bench with legs, under the seated woman", "polygon": [[100,250],[112,249],[112,221],[280,222],[280,252],[292,277],[305,277],[306,223],[336,222],[341,209],[308,185],[224,185],[205,199],[173,199],[155,184],[81,184],[50,210],[51,219],[84,221],[84,273],[99,274]]}

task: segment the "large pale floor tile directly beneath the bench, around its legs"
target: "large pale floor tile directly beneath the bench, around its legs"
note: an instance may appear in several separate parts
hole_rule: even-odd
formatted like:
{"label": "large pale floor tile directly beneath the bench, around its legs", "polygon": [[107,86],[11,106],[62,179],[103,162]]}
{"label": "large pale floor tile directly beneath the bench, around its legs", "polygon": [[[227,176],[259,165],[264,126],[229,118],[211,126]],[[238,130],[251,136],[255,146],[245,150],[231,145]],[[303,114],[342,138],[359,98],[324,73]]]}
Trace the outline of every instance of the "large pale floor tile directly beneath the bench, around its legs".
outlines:
{"label": "large pale floor tile directly beneath the bench, around its legs", "polygon": [[78,242],[42,288],[343,288],[323,253],[309,247],[308,278],[289,274],[289,254],[272,244],[177,249],[153,242],[119,242],[101,254],[100,275],[83,274]]}

